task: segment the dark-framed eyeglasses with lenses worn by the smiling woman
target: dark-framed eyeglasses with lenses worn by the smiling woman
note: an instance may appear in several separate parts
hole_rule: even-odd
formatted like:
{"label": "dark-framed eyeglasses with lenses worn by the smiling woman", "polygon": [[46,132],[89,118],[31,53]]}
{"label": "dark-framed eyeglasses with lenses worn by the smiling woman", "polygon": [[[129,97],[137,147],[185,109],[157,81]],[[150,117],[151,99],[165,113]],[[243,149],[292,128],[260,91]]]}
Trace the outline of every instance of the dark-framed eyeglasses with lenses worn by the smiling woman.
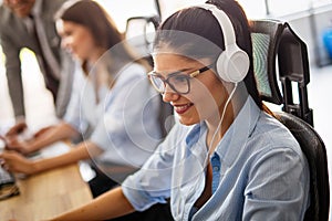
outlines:
{"label": "dark-framed eyeglasses with lenses worn by the smiling woman", "polygon": [[188,94],[190,92],[190,80],[196,77],[198,74],[201,74],[203,72],[210,70],[212,65],[214,64],[204,66],[189,74],[184,73],[183,71],[174,72],[168,74],[167,78],[164,78],[160,74],[154,71],[149,72],[147,75],[153,86],[160,94],[165,93],[166,84],[168,84],[170,88],[178,94]]}

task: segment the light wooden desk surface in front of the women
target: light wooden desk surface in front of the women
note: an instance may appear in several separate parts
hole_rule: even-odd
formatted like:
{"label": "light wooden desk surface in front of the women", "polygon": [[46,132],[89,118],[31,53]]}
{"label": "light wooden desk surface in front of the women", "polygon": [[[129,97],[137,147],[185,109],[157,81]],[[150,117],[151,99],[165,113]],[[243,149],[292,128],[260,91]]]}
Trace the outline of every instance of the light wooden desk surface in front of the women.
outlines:
{"label": "light wooden desk surface in front of the women", "polygon": [[41,221],[92,200],[77,164],[18,180],[20,194],[0,201],[0,220]]}

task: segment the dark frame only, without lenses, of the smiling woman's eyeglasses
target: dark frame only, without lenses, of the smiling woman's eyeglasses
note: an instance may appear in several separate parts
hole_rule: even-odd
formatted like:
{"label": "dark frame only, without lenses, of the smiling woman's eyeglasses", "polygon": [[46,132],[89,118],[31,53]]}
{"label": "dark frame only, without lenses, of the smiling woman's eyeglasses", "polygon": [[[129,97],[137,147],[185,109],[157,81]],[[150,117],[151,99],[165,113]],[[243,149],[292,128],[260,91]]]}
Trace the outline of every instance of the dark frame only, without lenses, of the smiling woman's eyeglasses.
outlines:
{"label": "dark frame only, without lenses, of the smiling woman's eyeglasses", "polygon": [[[215,63],[209,64],[209,65],[206,65],[206,66],[204,66],[204,67],[201,67],[201,69],[199,69],[199,70],[196,70],[196,71],[194,71],[194,72],[191,72],[191,73],[189,73],[189,74],[181,74],[183,71],[177,71],[177,72],[174,72],[174,73],[168,74],[168,76],[167,76],[166,80],[162,76],[162,74],[158,74],[158,73],[155,72],[155,71],[149,72],[149,73],[147,74],[147,76],[148,76],[149,81],[152,82],[152,85],[155,87],[155,90],[156,90],[158,93],[164,94],[164,93],[165,93],[165,88],[166,88],[166,84],[168,84],[168,85],[170,86],[170,88],[172,88],[174,92],[176,92],[177,94],[185,95],[185,94],[188,94],[188,93],[190,92],[190,82],[189,82],[189,80],[196,77],[197,75],[199,75],[199,74],[201,74],[201,73],[204,73],[204,72],[206,72],[206,71],[208,71],[208,70],[210,70],[210,69],[212,69],[214,65],[215,65]],[[179,75],[184,76],[184,77],[186,78],[186,81],[187,81],[187,84],[188,84],[188,91],[187,91],[187,92],[178,92],[178,91],[175,88],[175,86],[174,86],[172,83],[169,83],[169,78],[170,78],[170,77],[179,76]],[[154,83],[154,81],[152,80],[153,76],[158,77],[159,80],[163,81],[163,83],[164,83],[164,90],[163,90],[163,91],[160,91],[160,90],[158,88],[158,86]]]}

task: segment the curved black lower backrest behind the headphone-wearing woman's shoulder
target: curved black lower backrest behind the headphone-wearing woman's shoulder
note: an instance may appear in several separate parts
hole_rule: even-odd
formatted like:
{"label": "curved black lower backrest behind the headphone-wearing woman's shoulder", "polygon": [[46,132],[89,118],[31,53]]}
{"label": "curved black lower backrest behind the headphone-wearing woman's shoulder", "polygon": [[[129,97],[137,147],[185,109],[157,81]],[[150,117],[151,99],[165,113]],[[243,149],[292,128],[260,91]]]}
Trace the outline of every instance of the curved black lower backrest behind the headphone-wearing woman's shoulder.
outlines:
{"label": "curved black lower backrest behind the headphone-wearing woman's shoulder", "polygon": [[274,114],[297,138],[309,162],[311,204],[305,212],[304,220],[329,220],[330,189],[323,140],[311,125],[294,115],[284,112]]}

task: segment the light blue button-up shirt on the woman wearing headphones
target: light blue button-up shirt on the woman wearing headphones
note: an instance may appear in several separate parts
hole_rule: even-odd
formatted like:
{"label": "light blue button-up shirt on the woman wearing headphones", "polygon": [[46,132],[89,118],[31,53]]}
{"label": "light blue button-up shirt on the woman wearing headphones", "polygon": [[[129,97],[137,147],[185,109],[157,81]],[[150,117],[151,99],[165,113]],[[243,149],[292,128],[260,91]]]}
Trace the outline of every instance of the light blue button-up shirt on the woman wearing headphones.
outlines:
{"label": "light blue button-up shirt on the woman wearing headphones", "polygon": [[[123,191],[136,210],[170,197],[175,220],[303,220],[309,166],[297,140],[249,97],[209,157],[205,123],[176,124]],[[196,211],[212,165],[211,198]]]}

